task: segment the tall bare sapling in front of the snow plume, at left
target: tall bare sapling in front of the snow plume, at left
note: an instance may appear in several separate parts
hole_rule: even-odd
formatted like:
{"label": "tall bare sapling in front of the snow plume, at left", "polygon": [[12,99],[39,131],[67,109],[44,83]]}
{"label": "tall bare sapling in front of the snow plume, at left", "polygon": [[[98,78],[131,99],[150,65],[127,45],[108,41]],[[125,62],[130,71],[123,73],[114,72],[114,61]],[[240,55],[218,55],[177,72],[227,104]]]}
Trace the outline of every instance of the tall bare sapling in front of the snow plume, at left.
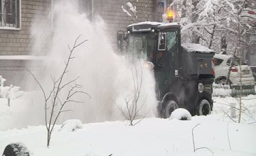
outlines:
{"label": "tall bare sapling in front of the snow plume, at left", "polygon": [[[87,94],[84,91],[79,91],[79,89],[81,89],[82,86],[75,83],[75,81],[79,77],[71,80],[70,82],[66,82],[66,83],[63,82],[63,78],[68,73],[68,65],[70,64],[70,60],[75,58],[72,56],[75,48],[77,48],[79,45],[82,45],[82,43],[85,43],[85,41],[87,41],[87,40],[83,40],[81,43],[77,43],[79,38],[80,38],[80,35],[78,36],[78,38],[76,38],[72,48],[70,48],[70,46],[68,45],[70,53],[69,53],[67,62],[65,62],[65,67],[63,69],[62,74],[60,74],[60,77],[58,77],[58,79],[55,79],[55,77],[50,76],[53,82],[53,87],[50,90],[50,93],[48,95],[46,94],[46,90],[43,89],[43,86],[41,85],[41,83],[38,82],[38,79],[35,77],[35,75],[30,70],[27,69],[27,71],[33,76],[33,78],[36,80],[37,84],[41,88],[41,91],[43,92],[43,98],[44,98],[44,104],[45,104],[45,122],[46,122],[46,129],[47,129],[47,147],[49,147],[50,145],[50,137],[53,132],[55,123],[58,120],[58,117],[60,116],[60,113],[63,113],[66,111],[72,111],[70,109],[64,109],[64,106],[71,102],[82,103],[82,101],[74,100],[73,97],[76,94]],[[60,99],[60,93],[62,93],[64,89],[66,89],[68,86],[71,86],[70,89],[68,89],[68,94],[65,96],[64,99]],[[87,96],[89,96],[89,94],[87,94]],[[57,114],[55,115],[55,113]]]}

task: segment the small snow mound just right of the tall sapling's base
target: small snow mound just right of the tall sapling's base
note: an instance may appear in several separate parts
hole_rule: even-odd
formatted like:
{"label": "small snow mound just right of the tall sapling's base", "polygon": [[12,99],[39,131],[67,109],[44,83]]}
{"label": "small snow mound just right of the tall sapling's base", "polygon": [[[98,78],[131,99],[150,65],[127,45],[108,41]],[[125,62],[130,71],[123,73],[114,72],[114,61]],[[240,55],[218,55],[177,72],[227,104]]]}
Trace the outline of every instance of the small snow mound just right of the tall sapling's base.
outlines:
{"label": "small snow mound just right of the tall sapling's base", "polygon": [[60,131],[68,131],[68,132],[73,132],[77,129],[81,129],[82,128],[82,122],[78,119],[70,119],[68,121],[65,121],[63,123],[63,125],[61,126],[61,128],[58,130]]}

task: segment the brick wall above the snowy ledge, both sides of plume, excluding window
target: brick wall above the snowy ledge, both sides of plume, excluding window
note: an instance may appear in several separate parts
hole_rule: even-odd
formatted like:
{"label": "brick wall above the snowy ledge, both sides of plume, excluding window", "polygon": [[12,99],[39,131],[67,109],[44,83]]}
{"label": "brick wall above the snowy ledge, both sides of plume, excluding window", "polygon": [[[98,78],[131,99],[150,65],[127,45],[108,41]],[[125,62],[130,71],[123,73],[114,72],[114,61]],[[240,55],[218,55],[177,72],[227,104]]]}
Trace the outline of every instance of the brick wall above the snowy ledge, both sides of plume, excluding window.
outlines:
{"label": "brick wall above the snowy ledge, both sides of plume, excluding window", "polygon": [[[157,0],[131,0],[137,7],[137,21],[122,11],[127,11],[126,1],[93,0],[94,16],[100,15],[107,24],[107,31],[114,43],[117,30],[126,30],[131,23],[139,21],[157,21],[154,13]],[[31,52],[31,24],[40,22],[50,11],[50,0],[21,0],[21,30],[3,30],[0,28],[0,55],[29,55]],[[132,13],[131,11],[129,11]],[[33,51],[33,50],[32,50]]]}

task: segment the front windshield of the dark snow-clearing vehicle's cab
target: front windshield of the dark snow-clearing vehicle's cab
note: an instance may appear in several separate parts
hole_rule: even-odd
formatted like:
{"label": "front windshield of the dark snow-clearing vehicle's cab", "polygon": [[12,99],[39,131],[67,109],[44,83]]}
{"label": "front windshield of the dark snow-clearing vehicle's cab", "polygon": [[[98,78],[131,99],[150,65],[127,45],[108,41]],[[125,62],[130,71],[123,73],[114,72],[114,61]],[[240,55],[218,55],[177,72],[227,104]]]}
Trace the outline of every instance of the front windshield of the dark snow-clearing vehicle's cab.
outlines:
{"label": "front windshield of the dark snow-clearing vehicle's cab", "polygon": [[131,55],[152,61],[155,44],[154,33],[133,33],[127,37],[127,50]]}

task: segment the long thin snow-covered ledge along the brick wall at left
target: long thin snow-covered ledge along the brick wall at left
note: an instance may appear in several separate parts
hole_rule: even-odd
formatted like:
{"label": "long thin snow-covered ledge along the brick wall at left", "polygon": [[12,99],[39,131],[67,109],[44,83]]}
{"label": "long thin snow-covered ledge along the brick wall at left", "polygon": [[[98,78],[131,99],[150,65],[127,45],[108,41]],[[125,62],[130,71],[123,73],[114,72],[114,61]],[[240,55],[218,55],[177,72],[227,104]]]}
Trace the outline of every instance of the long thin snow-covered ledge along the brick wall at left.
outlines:
{"label": "long thin snow-covered ledge along the brick wall at left", "polygon": [[0,60],[44,60],[45,56],[35,55],[0,55]]}

